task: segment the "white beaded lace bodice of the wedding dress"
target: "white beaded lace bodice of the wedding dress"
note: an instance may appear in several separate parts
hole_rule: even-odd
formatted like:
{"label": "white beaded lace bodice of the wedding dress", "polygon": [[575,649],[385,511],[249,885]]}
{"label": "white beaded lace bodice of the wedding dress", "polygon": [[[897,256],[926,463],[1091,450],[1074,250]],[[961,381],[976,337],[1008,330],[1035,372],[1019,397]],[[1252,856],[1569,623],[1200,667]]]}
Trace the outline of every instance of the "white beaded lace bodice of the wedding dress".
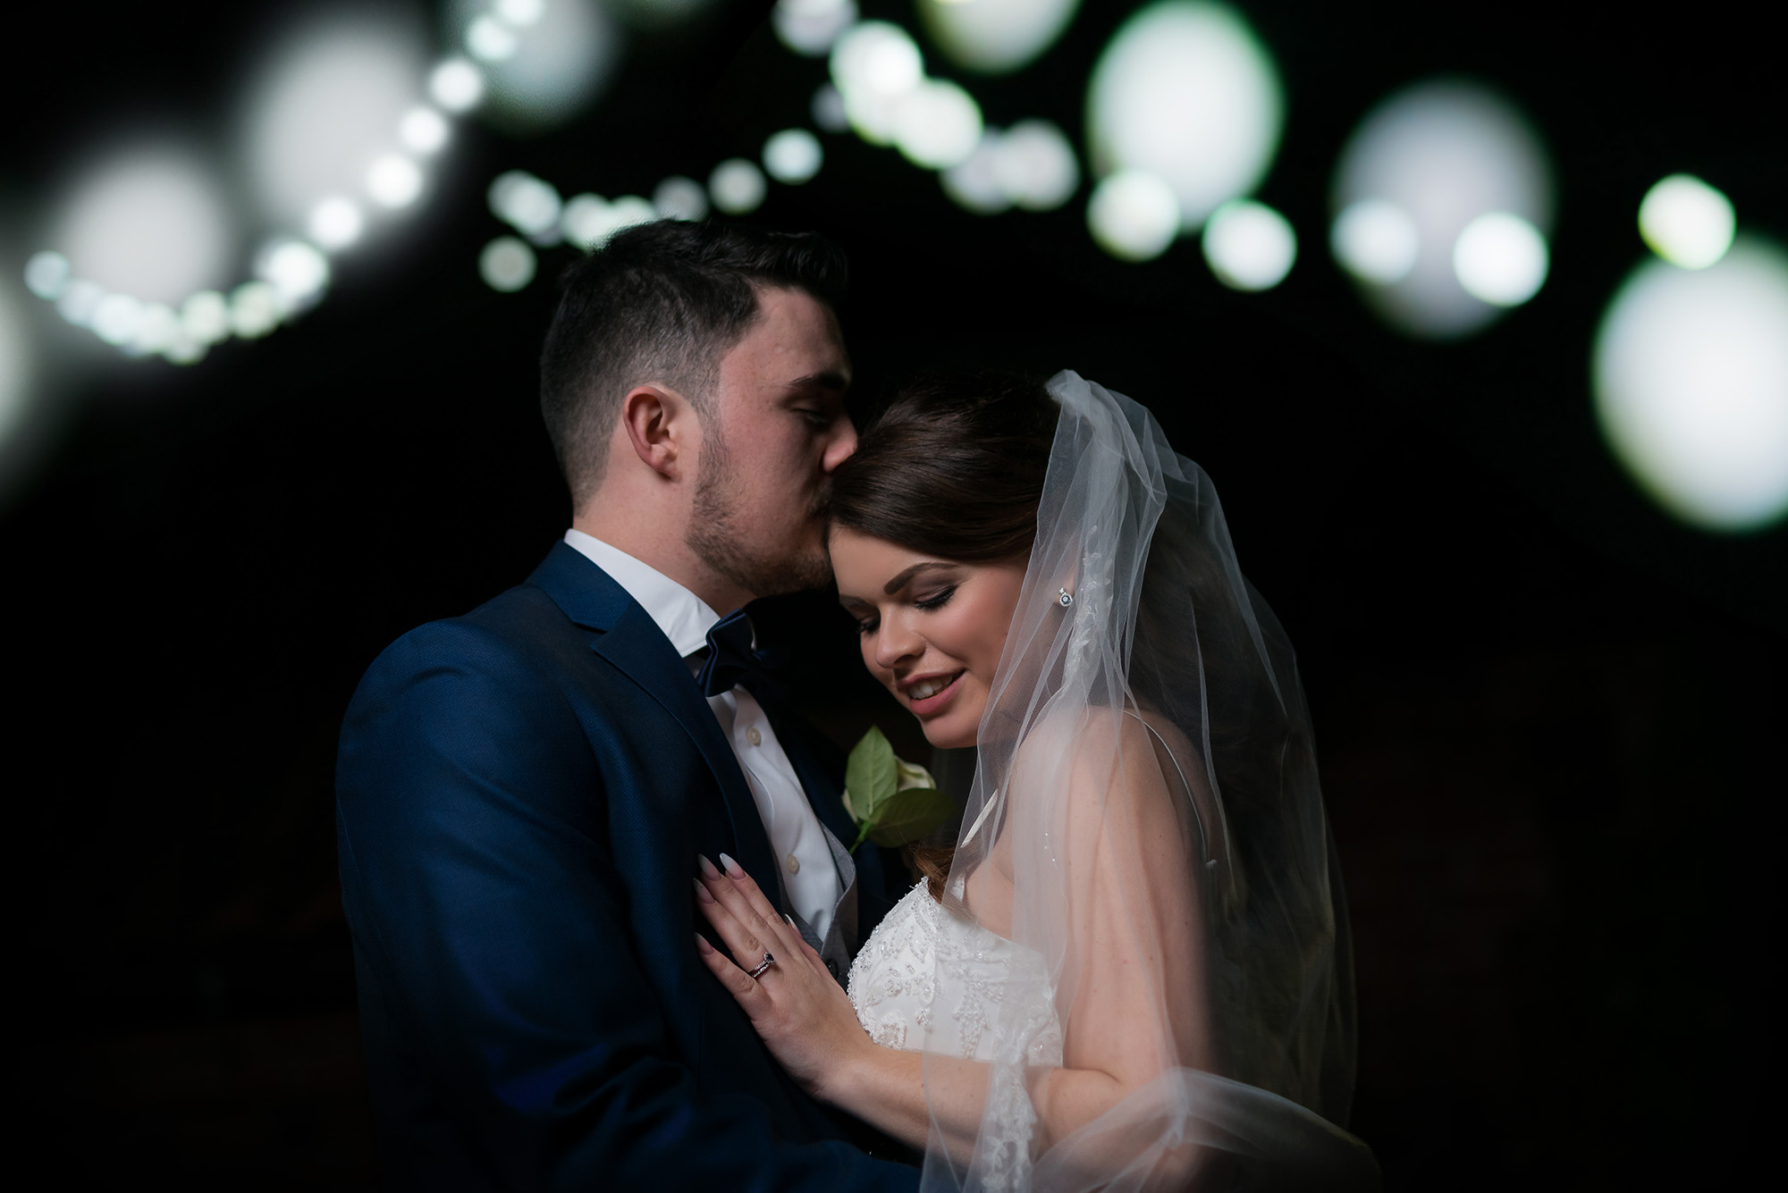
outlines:
{"label": "white beaded lace bodice of the wedding dress", "polygon": [[[1007,1007],[1023,991],[1023,1007]],[[869,1038],[907,1052],[994,1059],[1001,1014],[1028,1023],[1030,1064],[1062,1063],[1062,1029],[1042,957],[944,911],[924,882],[894,904],[856,954],[851,1005]]]}

